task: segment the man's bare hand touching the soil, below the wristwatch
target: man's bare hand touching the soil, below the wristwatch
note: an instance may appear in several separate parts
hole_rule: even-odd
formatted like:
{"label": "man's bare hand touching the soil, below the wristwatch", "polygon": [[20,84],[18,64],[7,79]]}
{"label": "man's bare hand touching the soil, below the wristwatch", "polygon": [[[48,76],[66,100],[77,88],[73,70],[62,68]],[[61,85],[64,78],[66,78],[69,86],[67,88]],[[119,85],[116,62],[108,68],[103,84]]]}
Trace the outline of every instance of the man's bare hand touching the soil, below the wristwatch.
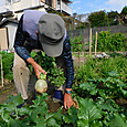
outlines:
{"label": "man's bare hand touching the soil, below the wristwatch", "polygon": [[73,106],[73,99],[71,94],[64,94],[64,107],[65,109],[71,108]]}

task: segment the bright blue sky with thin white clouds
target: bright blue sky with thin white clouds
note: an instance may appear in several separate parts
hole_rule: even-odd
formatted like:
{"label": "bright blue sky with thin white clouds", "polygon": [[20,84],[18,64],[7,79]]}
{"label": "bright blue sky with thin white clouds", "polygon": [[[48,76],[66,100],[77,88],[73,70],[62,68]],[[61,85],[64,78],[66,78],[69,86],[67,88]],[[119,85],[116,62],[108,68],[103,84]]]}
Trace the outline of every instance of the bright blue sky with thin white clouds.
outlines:
{"label": "bright blue sky with thin white clouds", "polygon": [[72,0],[72,13],[85,14],[105,10],[106,12],[117,11],[121,12],[123,8],[127,6],[127,0]]}

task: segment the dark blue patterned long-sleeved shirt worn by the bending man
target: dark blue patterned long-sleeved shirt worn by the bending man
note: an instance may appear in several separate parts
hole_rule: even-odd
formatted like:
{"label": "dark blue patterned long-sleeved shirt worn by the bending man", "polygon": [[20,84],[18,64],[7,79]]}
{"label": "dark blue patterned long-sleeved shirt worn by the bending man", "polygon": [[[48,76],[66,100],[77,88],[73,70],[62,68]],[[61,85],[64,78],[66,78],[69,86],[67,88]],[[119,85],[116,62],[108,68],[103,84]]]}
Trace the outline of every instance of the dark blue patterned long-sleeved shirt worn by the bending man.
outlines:
{"label": "dark blue patterned long-sleeved shirt worn by the bending man", "polygon": [[[42,45],[39,42],[39,39],[33,40],[28,32],[23,31],[23,15],[22,15],[19,21],[18,30],[15,33],[14,50],[20,57],[27,61],[29,57],[31,57],[30,52],[33,49],[42,50]],[[63,52],[60,57],[63,59],[62,62],[64,62],[64,66],[65,66],[64,70],[66,72],[66,88],[72,88],[73,80],[74,80],[74,66],[73,66],[73,59],[71,53],[70,38],[67,35],[64,41]]]}

